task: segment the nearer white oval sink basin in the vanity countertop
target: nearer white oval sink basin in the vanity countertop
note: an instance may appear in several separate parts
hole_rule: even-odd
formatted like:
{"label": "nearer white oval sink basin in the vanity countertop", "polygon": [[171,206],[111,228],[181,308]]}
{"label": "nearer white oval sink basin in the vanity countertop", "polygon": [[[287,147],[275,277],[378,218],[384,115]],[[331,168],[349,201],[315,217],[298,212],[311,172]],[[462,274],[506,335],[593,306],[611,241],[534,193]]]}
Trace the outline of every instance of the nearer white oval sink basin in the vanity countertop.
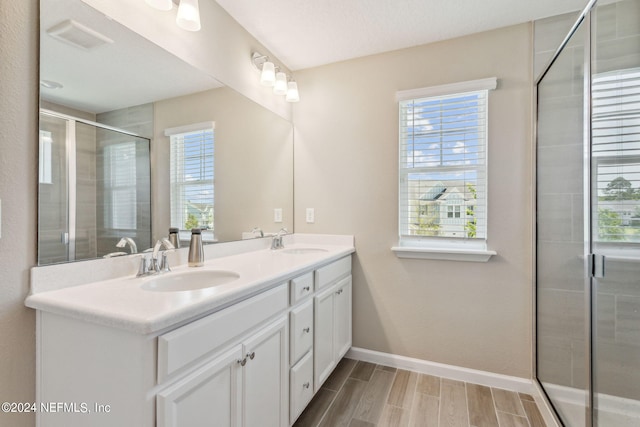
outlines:
{"label": "nearer white oval sink basin in the vanity countertop", "polygon": [[224,270],[168,273],[150,279],[142,285],[142,289],[154,292],[195,291],[224,285],[238,278],[238,273]]}

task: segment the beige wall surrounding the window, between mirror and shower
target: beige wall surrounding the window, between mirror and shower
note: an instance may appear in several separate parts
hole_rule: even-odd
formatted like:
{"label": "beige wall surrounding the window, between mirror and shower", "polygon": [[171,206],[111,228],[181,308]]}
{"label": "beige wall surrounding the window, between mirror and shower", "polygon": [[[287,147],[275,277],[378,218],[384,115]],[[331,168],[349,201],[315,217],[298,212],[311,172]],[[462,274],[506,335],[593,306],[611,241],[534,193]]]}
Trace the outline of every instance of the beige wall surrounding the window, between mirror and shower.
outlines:
{"label": "beige wall surrounding the window, between mirror and shower", "polygon": [[[355,235],[354,346],[531,377],[530,33],[524,24],[297,73],[296,232]],[[492,76],[488,240],[498,255],[398,259],[395,92]]]}

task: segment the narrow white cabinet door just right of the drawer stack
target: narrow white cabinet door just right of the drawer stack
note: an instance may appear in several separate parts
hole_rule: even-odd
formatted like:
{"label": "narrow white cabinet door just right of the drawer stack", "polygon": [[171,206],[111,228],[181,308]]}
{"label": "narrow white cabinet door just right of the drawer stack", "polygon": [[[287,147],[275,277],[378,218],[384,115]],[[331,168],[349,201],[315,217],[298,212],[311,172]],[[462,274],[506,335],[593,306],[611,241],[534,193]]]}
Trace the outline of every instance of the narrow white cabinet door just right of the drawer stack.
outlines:
{"label": "narrow white cabinet door just right of the drawer stack", "polygon": [[314,391],[329,377],[335,367],[334,292],[332,286],[314,297],[313,385]]}

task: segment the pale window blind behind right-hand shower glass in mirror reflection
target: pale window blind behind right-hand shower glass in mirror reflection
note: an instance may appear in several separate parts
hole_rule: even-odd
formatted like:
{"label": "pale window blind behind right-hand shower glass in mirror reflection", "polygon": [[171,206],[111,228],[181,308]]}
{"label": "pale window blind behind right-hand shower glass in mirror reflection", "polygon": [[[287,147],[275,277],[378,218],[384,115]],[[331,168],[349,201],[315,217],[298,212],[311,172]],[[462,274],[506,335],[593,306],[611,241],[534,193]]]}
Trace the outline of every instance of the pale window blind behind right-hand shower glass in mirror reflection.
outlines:
{"label": "pale window blind behind right-hand shower glass in mirror reflection", "polygon": [[104,147],[105,226],[111,229],[137,228],[136,143]]}

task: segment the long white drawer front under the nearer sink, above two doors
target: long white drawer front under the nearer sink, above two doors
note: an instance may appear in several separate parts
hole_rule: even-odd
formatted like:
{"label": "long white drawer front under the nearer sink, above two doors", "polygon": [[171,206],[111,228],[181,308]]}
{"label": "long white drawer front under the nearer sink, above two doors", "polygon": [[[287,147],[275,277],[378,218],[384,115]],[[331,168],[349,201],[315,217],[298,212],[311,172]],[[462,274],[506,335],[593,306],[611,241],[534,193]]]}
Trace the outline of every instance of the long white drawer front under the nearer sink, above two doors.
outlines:
{"label": "long white drawer front under the nearer sink, above two doors", "polygon": [[229,340],[286,310],[287,284],[158,337],[158,383]]}

